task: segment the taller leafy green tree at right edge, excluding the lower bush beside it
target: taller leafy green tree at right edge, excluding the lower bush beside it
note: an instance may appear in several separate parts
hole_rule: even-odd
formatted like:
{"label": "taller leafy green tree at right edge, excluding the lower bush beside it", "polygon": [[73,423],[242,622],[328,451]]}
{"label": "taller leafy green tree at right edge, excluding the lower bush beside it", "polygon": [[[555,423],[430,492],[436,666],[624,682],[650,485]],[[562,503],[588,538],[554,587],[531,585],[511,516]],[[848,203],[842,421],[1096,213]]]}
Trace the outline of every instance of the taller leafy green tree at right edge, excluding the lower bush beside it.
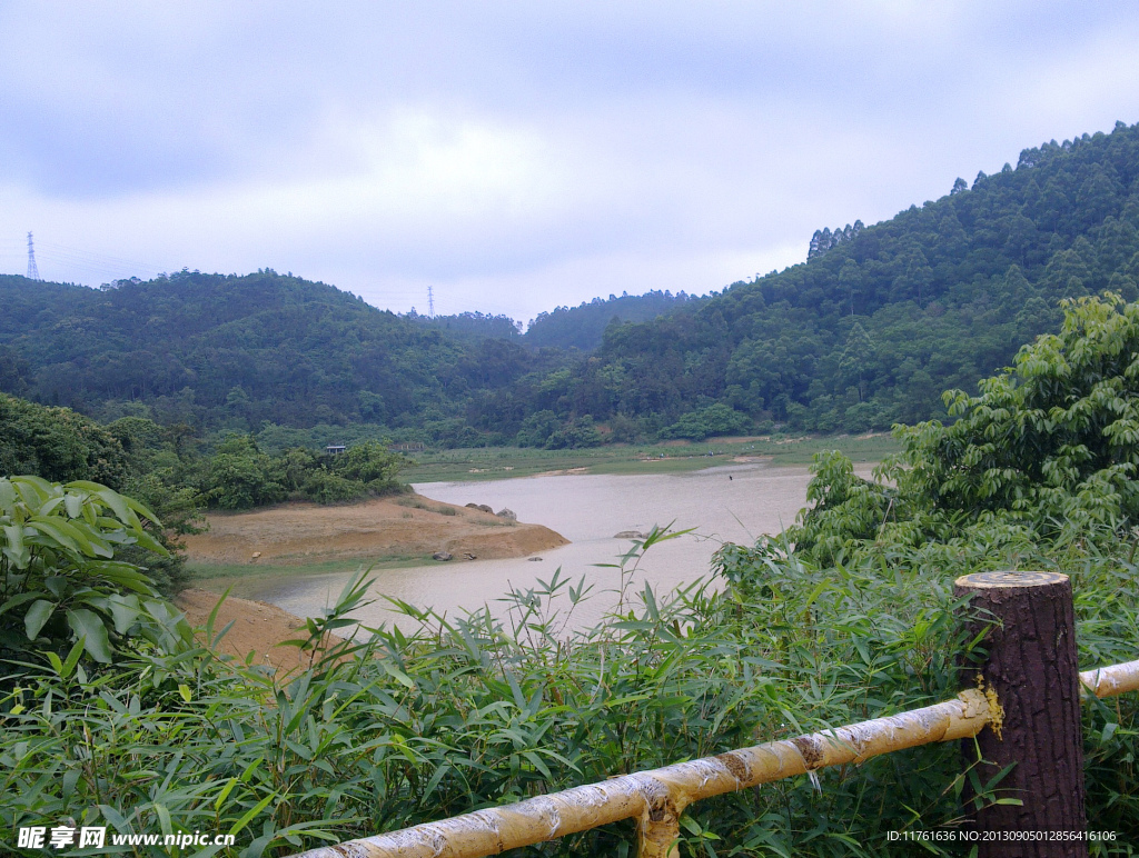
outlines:
{"label": "taller leafy green tree at right edge, excluding the lower bush beside it", "polygon": [[1139,304],[1108,294],[1062,306],[1060,332],[1022,348],[978,396],[947,393],[954,423],[903,430],[907,490],[1046,528],[1137,520]]}

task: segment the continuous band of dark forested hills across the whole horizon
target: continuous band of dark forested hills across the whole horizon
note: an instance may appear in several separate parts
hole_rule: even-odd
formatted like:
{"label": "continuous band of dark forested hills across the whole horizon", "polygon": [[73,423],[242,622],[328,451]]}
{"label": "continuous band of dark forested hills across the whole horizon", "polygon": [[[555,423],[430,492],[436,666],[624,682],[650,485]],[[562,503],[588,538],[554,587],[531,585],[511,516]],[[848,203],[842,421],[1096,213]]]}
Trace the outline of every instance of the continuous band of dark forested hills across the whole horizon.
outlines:
{"label": "continuous band of dark forested hills across the whole horizon", "polygon": [[101,289],[0,277],[0,390],[105,421],[441,446],[884,429],[1008,365],[1059,299],[1139,295],[1137,179],[1139,125],[1120,123],[890,221],[820,230],[805,263],[722,294],[611,296],[525,335],[272,271]]}

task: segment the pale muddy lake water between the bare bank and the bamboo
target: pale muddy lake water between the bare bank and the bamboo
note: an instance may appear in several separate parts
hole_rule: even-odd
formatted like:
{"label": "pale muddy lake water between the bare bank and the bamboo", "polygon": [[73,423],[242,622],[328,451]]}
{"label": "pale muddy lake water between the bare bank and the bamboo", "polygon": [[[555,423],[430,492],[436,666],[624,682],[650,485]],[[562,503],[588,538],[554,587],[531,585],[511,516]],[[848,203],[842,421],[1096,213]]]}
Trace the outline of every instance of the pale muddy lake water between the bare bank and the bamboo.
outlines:
{"label": "pale muddy lake water between the bare bank and the bamboo", "polygon": [[[593,585],[590,599],[574,610],[571,621],[577,627],[591,625],[621,597],[621,572],[596,566],[617,563],[617,558],[632,547],[629,538],[615,538],[615,534],[647,533],[654,525],[693,529],[689,535],[652,547],[630,576],[630,594],[645,581],[659,594],[670,593],[710,577],[712,554],[724,542],[751,544],[760,535],[778,533],[792,523],[805,503],[808,480],[805,468],[743,463],[688,473],[420,484],[417,492],[446,503],[485,503],[495,511],[514,510],[521,521],[546,525],[571,544],[540,554],[541,561],[456,560],[378,570],[372,574],[377,579],[374,594],[432,607],[452,617],[483,605],[503,617],[507,605],[499,600],[511,586],[534,587],[560,567],[563,575],[575,583],[584,577],[587,584]],[[282,583],[255,597],[302,617],[311,616],[335,600],[345,578],[336,575]],[[363,609],[357,617],[366,625],[398,619],[383,604]],[[404,618],[400,625],[410,624]]]}

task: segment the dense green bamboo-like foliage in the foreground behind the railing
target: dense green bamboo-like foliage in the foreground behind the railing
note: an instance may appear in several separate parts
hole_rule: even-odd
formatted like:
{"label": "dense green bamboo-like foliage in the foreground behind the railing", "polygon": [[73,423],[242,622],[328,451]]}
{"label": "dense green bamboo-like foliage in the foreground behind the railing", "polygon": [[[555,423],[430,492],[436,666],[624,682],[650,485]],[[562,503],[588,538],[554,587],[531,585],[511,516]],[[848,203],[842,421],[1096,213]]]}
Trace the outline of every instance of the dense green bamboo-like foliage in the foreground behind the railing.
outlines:
{"label": "dense green bamboo-like foliage in the foreground behind the railing", "polygon": [[[149,647],[98,673],[77,655],[8,665],[0,843],[14,844],[18,826],[74,820],[235,833],[226,855],[288,855],[957,692],[968,644],[952,578],[1007,556],[960,544],[821,569],[785,548],[729,546],[716,566],[724,592],[707,580],[667,596],[625,589],[584,632],[567,633],[584,585],[555,574],[508,594],[502,620],[400,604],[417,632],[368,629],[325,647],[352,625],[358,577],[310,621],[296,642],[309,668],[292,676],[219,655],[213,620],[208,645]],[[1022,566],[1073,575],[1083,667],[1134,658],[1137,570],[1122,552],[1015,550]],[[639,553],[623,562],[623,587]],[[1097,855],[1139,843],[1136,710],[1133,699],[1085,707],[1089,816],[1120,838],[1093,844]],[[822,770],[693,806],[681,851],[907,855],[915,844],[886,832],[956,824],[962,783],[957,745]],[[624,824],[518,853],[626,856],[632,843]]]}

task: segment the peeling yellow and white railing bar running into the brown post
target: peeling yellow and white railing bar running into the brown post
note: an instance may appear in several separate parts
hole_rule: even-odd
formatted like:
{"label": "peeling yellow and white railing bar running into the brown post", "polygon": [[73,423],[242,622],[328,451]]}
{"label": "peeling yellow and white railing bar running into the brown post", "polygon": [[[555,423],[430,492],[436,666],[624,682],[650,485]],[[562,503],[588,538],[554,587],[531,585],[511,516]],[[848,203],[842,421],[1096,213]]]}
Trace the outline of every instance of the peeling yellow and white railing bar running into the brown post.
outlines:
{"label": "peeling yellow and white railing bar running into the brown post", "polygon": [[[1085,693],[1098,698],[1139,691],[1139,660],[1085,670],[1080,680]],[[694,801],[904,748],[967,739],[999,725],[1000,717],[992,694],[970,688],[887,718],[623,775],[313,849],[298,858],[480,858],[630,818],[639,822],[641,858],[673,858],[680,815]]]}

